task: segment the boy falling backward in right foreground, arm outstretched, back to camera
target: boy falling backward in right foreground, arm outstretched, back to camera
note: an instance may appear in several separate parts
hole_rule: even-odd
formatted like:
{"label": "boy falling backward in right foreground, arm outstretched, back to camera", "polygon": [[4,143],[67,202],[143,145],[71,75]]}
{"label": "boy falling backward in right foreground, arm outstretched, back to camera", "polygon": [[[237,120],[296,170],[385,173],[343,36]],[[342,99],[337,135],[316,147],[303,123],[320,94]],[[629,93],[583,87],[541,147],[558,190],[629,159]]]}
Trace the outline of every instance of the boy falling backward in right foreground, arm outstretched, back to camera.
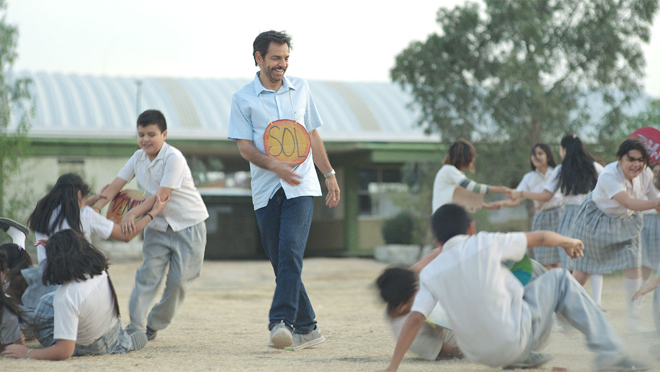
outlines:
{"label": "boy falling backward in right foreground, arm outstretched, back to camera", "polygon": [[545,363],[551,356],[535,350],[545,345],[556,312],[585,334],[599,371],[647,369],[621,352],[603,312],[568,271],[550,270],[523,287],[502,265],[520,260],[529,246],[558,245],[572,258],[582,256],[578,239],[551,231],[477,234],[465,209],[455,204],[438,208],[432,229],[439,254],[420,272],[420,287],[387,371],[397,370],[436,303],[445,309],[461,352],[473,361],[511,368]]}

